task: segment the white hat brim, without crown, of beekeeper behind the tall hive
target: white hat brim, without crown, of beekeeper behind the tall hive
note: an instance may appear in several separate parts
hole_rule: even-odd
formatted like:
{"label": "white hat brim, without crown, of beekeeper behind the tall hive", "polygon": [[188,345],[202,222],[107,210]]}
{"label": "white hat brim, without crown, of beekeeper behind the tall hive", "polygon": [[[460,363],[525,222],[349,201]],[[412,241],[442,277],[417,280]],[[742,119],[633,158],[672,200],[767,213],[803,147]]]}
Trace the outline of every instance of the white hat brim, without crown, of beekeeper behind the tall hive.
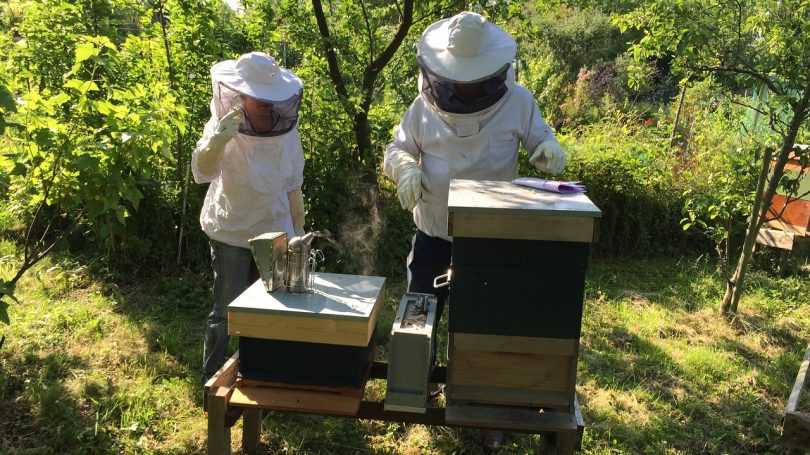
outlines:
{"label": "white hat brim, without crown, of beekeeper behind the tall hive", "polygon": [[473,57],[454,55],[447,49],[450,21],[436,22],[419,39],[417,55],[435,74],[455,82],[475,82],[486,79],[514,60],[515,40],[491,22],[486,23],[488,42],[484,43],[484,52]]}

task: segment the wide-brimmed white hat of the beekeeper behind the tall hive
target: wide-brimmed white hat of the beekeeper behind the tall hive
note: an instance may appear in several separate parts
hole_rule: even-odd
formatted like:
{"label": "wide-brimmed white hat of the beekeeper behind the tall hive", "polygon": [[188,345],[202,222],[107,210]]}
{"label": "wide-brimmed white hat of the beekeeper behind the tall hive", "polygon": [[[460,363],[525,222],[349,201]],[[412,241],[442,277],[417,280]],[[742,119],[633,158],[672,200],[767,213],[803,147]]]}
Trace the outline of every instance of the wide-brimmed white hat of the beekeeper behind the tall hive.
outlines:
{"label": "wide-brimmed white hat of the beekeeper behind the tall hive", "polygon": [[443,19],[422,33],[417,56],[445,79],[475,82],[511,63],[517,53],[509,33],[477,13]]}

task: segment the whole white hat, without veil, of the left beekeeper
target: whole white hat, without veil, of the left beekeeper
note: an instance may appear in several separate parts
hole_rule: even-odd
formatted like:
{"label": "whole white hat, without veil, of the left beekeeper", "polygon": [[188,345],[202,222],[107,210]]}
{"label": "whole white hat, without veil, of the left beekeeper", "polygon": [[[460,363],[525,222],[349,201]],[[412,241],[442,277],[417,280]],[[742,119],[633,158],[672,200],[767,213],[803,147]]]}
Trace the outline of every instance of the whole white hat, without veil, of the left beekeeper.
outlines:
{"label": "whole white hat, without veil, of the left beekeeper", "polygon": [[214,84],[265,101],[285,101],[298,94],[304,84],[292,71],[264,52],[250,52],[238,60],[225,60],[211,67]]}

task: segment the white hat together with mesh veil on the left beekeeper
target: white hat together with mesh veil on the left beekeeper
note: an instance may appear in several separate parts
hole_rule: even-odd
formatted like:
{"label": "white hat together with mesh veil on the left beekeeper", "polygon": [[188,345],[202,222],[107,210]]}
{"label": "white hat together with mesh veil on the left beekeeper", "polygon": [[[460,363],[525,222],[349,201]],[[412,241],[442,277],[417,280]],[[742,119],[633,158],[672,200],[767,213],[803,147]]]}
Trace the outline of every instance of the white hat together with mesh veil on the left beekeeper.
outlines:
{"label": "white hat together with mesh veil on the left beekeeper", "polygon": [[[234,108],[245,111],[240,133],[253,136],[278,136],[298,123],[298,107],[304,84],[291,71],[282,68],[264,52],[250,52],[238,60],[225,60],[211,68],[214,99],[212,114],[221,118]],[[244,97],[262,103],[263,108],[244,109]],[[256,128],[256,125],[272,125]]]}

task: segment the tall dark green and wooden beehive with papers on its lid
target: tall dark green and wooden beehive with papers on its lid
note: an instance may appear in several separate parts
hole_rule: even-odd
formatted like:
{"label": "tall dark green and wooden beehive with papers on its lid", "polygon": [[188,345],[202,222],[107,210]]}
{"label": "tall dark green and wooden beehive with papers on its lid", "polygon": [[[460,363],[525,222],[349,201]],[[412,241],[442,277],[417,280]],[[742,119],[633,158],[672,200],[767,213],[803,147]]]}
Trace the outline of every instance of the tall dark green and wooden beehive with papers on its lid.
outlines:
{"label": "tall dark green and wooden beehive with papers on its lid", "polygon": [[451,181],[449,403],[573,409],[600,216],[584,194]]}

